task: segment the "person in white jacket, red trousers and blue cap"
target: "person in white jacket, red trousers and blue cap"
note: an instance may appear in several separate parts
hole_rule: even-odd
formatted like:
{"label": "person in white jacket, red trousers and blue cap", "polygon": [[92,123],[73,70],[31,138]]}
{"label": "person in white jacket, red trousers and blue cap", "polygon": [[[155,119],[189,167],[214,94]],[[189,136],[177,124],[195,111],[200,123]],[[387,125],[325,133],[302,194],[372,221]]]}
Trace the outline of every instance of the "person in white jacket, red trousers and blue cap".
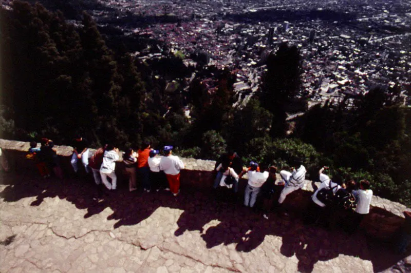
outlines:
{"label": "person in white jacket, red trousers and blue cap", "polygon": [[164,146],[164,157],[160,160],[160,170],[164,171],[170,190],[177,196],[180,192],[180,170],[184,168],[184,163],[176,156],[172,155],[173,146]]}

